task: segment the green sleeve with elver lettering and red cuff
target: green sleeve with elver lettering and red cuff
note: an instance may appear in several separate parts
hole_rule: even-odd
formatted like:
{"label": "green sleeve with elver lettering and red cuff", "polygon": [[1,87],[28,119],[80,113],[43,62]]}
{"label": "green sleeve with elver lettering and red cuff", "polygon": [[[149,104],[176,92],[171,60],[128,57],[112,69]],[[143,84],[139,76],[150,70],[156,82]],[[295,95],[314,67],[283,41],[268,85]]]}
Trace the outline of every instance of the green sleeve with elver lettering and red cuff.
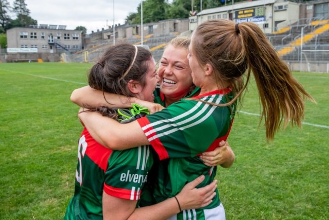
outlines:
{"label": "green sleeve with elver lettering and red cuff", "polygon": [[113,151],[105,171],[105,193],[122,199],[139,200],[152,162],[148,145]]}

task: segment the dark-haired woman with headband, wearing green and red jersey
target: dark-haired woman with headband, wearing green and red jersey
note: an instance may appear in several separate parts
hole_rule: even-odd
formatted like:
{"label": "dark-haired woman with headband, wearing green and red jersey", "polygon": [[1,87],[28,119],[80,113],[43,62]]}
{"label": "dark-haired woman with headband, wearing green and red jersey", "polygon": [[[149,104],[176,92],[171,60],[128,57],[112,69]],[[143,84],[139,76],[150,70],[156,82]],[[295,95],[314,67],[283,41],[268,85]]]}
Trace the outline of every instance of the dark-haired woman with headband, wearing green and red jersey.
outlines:
{"label": "dark-haired woman with headband, wearing green and red jersey", "polygon": [[[157,81],[151,53],[130,44],[107,49],[89,73],[91,88],[148,101],[153,99]],[[118,121],[121,121],[120,116],[127,117],[106,106],[86,112],[98,112]],[[138,118],[148,111],[134,105],[128,113]],[[78,141],[77,154],[75,192],[64,219],[166,219],[181,208],[208,205],[214,196],[216,182],[201,190],[195,189],[204,178],[199,176],[175,198],[135,209],[153,163],[147,144],[126,151],[112,151],[97,142],[85,127]]]}

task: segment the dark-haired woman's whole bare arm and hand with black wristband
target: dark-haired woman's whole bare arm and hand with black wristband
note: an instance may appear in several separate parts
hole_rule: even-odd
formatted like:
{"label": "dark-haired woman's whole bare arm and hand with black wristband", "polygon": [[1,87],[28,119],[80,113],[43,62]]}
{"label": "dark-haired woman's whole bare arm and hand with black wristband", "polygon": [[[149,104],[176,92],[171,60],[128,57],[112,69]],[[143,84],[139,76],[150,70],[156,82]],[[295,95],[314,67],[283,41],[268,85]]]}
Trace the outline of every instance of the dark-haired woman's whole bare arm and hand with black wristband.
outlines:
{"label": "dark-haired woman's whole bare arm and hand with black wristband", "polygon": [[[216,195],[217,180],[208,186],[195,188],[204,179],[201,175],[184,186],[182,191],[175,198],[167,199],[155,205],[142,208],[136,207],[136,200],[121,199],[110,196],[103,192],[103,219],[104,220],[165,220],[180,212],[180,208],[193,209],[209,205]],[[180,208],[179,208],[180,207]]]}

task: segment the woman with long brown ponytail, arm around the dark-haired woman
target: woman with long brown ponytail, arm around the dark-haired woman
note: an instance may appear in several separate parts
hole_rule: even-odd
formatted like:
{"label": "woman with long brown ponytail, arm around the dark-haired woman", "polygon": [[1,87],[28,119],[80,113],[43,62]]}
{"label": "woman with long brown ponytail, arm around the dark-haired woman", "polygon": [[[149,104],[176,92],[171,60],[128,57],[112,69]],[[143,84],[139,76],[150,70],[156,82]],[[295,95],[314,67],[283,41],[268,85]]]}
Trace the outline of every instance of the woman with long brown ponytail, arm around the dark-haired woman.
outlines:
{"label": "woman with long brown ponytail, arm around the dark-haired woman", "polygon": [[[263,105],[268,140],[274,138],[282,118],[284,126],[289,122],[300,126],[304,98],[313,100],[254,23],[209,20],[200,24],[192,33],[188,60],[193,83],[200,88],[196,96],[129,124],[97,113],[79,114],[91,135],[110,149],[150,144],[160,160],[170,158],[166,184],[171,190],[163,195],[167,198],[198,175],[205,175],[198,187],[214,180],[216,167],[205,166],[198,155],[227,139],[251,72]],[[170,219],[225,219],[225,211],[216,196],[208,206],[182,210]]]}

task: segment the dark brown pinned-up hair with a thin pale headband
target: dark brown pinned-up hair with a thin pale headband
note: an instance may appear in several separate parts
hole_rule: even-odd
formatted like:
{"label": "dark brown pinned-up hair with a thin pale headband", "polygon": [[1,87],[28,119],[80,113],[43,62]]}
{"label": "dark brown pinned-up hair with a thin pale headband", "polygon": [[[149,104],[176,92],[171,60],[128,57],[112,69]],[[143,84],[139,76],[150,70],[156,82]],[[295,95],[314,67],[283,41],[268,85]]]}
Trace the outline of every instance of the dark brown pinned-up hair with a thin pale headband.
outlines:
{"label": "dark brown pinned-up hair with a thin pale headband", "polygon": [[[149,68],[147,61],[151,59],[151,52],[143,47],[131,44],[110,46],[91,68],[88,76],[89,86],[103,92],[133,97],[127,85],[130,80],[138,81],[142,86],[146,85]],[[106,100],[105,95],[104,99]],[[97,111],[111,118],[117,115],[106,106],[91,111]]]}

